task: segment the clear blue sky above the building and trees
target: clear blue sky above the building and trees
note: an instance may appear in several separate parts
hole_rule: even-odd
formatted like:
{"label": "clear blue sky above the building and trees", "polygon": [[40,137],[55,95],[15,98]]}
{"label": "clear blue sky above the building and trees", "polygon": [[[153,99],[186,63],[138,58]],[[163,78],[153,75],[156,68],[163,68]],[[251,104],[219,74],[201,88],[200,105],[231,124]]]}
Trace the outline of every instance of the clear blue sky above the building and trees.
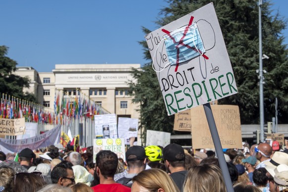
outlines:
{"label": "clear blue sky above the building and trees", "polygon": [[[288,18],[288,0],[271,0]],[[142,26],[155,30],[165,0],[1,0],[0,45],[17,66],[144,64]],[[283,31],[288,44],[288,29]],[[264,50],[263,50],[264,51]]]}

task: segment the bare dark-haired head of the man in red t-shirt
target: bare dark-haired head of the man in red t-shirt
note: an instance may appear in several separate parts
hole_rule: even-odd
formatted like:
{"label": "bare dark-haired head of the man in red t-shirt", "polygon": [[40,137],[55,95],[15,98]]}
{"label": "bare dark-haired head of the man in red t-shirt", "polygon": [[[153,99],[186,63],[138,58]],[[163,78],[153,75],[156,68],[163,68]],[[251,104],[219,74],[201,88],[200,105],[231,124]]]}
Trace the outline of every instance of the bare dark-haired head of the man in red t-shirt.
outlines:
{"label": "bare dark-haired head of the man in red t-shirt", "polygon": [[[96,154],[96,172],[104,179],[113,178],[118,166],[117,155],[110,150],[101,150]],[[101,181],[101,180],[100,180]]]}

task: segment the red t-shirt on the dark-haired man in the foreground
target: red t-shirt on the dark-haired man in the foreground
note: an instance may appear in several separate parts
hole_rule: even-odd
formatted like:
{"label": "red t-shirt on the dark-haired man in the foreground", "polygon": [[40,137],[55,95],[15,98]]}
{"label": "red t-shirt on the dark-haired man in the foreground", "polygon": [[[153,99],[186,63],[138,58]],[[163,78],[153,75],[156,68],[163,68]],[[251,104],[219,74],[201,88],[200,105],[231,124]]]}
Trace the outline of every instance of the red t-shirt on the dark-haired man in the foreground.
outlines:
{"label": "red t-shirt on the dark-haired man in the foreground", "polygon": [[91,188],[94,192],[131,192],[129,187],[118,183],[99,184]]}

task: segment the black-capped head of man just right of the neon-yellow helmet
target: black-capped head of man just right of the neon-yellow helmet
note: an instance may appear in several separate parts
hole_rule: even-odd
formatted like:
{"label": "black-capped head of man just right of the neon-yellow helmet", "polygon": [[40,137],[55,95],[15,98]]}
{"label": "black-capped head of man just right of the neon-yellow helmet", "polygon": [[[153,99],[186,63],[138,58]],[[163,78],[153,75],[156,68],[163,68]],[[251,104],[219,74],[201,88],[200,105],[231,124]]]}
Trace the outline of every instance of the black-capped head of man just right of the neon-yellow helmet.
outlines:
{"label": "black-capped head of man just right of the neon-yellow helmet", "polygon": [[179,144],[168,144],[165,146],[163,149],[163,159],[169,172],[175,167],[185,168],[185,152]]}

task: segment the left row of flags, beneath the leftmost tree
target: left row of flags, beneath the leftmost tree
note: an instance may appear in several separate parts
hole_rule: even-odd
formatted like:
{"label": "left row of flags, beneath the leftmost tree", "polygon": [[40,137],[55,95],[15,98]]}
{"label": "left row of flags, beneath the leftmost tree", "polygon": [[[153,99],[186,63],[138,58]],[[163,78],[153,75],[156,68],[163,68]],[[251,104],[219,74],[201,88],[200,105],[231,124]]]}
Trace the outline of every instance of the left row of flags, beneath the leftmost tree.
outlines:
{"label": "left row of flags, beneath the leftmost tree", "polygon": [[2,94],[0,118],[25,118],[25,122],[53,124],[54,112],[43,105]]}

